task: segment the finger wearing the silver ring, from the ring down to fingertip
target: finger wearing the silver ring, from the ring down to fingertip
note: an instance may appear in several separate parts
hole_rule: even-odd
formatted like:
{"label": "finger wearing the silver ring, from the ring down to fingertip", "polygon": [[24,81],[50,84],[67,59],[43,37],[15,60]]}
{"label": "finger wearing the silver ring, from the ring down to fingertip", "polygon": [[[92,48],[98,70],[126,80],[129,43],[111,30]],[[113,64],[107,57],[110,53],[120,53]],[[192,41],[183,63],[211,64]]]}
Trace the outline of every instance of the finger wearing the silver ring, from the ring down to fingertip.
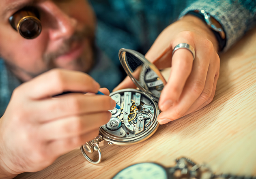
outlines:
{"label": "finger wearing the silver ring, from the ring down to fingertip", "polygon": [[193,65],[193,55],[187,49],[175,51],[172,57],[172,70],[168,83],[161,92],[159,107],[166,111],[179,100],[183,87],[190,75]]}

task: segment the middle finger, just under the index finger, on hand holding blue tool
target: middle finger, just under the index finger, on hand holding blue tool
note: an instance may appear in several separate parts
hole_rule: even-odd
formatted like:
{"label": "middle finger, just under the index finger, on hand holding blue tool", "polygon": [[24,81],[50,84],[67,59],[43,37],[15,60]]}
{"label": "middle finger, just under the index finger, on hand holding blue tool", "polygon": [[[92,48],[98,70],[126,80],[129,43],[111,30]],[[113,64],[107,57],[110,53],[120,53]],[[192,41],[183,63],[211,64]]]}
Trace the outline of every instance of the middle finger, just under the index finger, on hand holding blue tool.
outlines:
{"label": "middle finger, just under the index finger, on hand holding blue tool", "polygon": [[33,108],[37,110],[34,118],[44,123],[74,115],[106,112],[114,109],[115,106],[116,102],[110,96],[73,93],[62,95],[59,98],[41,100],[35,103]]}

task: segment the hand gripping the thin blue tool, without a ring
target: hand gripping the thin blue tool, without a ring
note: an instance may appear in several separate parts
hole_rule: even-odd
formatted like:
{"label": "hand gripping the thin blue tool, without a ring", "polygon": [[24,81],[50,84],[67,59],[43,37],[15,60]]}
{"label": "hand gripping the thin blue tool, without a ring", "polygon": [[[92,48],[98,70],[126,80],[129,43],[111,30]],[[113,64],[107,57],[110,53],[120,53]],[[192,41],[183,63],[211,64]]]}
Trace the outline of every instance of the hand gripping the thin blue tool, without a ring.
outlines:
{"label": "hand gripping the thin blue tool, without a ring", "polygon": [[[11,176],[49,166],[94,139],[116,102],[82,72],[54,69],[17,87],[0,119],[0,170]],[[109,95],[108,89],[100,89]],[[1,174],[1,172],[0,172]],[[13,174],[13,175],[11,175]],[[7,174],[6,174],[7,176]],[[1,178],[1,175],[0,175]]]}

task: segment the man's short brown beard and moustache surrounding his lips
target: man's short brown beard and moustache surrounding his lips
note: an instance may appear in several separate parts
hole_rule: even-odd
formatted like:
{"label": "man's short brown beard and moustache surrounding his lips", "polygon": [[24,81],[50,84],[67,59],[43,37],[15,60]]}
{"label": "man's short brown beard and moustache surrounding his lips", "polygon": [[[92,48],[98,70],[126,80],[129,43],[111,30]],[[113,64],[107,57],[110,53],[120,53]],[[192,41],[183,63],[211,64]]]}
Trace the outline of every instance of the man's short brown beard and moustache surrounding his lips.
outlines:
{"label": "man's short brown beard and moustache surrounding his lips", "polygon": [[[56,64],[56,58],[58,58],[61,55],[65,55],[66,53],[68,53],[74,48],[75,44],[82,44],[84,41],[87,41],[88,44],[86,48],[83,49],[82,55],[79,58],[72,60],[65,67],[58,66],[58,64]],[[83,30],[75,31],[74,34],[69,39],[66,39],[63,41],[62,45],[56,51],[51,53],[45,53],[43,55],[42,60],[43,60],[43,63],[45,64],[45,68],[43,70],[41,69],[41,71],[37,73],[29,72],[24,68],[20,68],[19,66],[13,64],[11,60],[4,59],[4,61],[5,61],[6,67],[12,72],[14,72],[14,74],[17,71],[20,71],[31,78],[41,75],[42,73],[47,72],[48,70],[51,70],[53,68],[65,68],[68,70],[88,72],[90,68],[92,68],[93,66],[93,59],[95,57],[96,47],[94,42],[95,42],[95,33],[92,28],[89,28],[88,26],[86,26]],[[20,80],[23,81],[22,79]]]}

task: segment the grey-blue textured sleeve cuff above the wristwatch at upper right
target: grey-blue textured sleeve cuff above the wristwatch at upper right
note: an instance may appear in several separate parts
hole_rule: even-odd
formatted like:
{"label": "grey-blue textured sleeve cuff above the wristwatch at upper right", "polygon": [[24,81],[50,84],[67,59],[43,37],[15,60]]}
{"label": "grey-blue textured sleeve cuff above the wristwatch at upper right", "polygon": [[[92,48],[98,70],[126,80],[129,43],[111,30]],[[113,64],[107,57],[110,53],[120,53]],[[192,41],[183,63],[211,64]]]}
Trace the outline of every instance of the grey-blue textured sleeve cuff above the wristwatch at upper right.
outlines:
{"label": "grey-blue textured sleeve cuff above the wristwatch at upper right", "polygon": [[256,0],[197,0],[184,9],[179,18],[189,11],[202,9],[222,25],[227,38],[223,51],[256,25]]}

